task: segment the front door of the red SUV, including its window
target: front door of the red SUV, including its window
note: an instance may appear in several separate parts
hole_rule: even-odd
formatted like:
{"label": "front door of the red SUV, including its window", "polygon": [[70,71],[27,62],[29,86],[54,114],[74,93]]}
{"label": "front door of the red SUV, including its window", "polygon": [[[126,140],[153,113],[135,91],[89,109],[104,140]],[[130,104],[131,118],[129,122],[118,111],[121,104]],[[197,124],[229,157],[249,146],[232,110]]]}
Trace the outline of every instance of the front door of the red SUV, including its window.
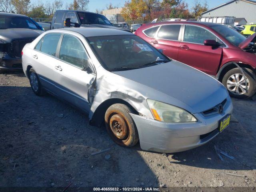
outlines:
{"label": "front door of the red SUV, including its window", "polygon": [[222,42],[209,30],[186,25],[183,41],[180,42],[178,61],[210,75],[216,75],[222,56],[222,47],[204,45],[204,40]]}

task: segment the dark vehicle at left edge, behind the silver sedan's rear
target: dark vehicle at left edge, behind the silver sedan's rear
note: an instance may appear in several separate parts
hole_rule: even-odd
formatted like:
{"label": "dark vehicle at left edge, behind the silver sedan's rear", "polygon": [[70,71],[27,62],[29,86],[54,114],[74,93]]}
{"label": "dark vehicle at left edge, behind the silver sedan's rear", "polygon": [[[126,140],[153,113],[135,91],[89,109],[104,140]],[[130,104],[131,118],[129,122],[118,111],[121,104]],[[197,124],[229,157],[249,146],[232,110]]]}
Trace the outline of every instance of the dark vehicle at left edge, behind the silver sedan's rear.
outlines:
{"label": "dark vehicle at left edge, behind the silver sedan's rear", "polygon": [[22,69],[23,47],[42,32],[28,16],[0,12],[0,70]]}

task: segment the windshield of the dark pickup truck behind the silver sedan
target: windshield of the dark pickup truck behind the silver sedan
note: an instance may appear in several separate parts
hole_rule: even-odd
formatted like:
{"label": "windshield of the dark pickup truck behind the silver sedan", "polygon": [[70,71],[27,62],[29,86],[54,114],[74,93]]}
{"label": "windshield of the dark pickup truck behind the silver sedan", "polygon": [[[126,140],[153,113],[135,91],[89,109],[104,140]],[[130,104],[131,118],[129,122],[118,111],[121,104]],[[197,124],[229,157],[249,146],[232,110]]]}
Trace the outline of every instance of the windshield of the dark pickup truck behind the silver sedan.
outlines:
{"label": "windshield of the dark pickup truck behind the silver sedan", "polygon": [[110,25],[112,24],[109,20],[100,14],[88,13],[88,12],[78,12],[78,17],[82,24],[100,24],[100,25]]}

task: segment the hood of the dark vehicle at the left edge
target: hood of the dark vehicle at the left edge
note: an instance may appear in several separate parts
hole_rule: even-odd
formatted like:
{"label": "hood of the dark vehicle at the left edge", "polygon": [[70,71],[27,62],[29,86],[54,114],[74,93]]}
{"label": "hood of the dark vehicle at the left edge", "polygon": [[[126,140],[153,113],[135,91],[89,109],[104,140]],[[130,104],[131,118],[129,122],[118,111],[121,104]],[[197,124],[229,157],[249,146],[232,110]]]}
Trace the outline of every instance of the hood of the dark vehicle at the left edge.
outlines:
{"label": "hood of the dark vehicle at the left edge", "polygon": [[11,42],[14,39],[37,38],[44,31],[26,28],[0,29],[0,39]]}

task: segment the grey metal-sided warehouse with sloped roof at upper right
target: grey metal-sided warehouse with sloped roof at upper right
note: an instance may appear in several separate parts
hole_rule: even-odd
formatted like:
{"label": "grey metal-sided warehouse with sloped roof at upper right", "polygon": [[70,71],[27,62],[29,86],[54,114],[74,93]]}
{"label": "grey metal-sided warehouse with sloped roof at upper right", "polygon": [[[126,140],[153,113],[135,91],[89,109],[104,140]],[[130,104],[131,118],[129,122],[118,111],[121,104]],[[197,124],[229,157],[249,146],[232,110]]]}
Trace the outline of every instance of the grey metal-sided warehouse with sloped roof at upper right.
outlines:
{"label": "grey metal-sided warehouse with sloped roof at upper right", "polygon": [[203,17],[230,16],[245,18],[247,24],[256,24],[256,1],[232,0],[202,13]]}

